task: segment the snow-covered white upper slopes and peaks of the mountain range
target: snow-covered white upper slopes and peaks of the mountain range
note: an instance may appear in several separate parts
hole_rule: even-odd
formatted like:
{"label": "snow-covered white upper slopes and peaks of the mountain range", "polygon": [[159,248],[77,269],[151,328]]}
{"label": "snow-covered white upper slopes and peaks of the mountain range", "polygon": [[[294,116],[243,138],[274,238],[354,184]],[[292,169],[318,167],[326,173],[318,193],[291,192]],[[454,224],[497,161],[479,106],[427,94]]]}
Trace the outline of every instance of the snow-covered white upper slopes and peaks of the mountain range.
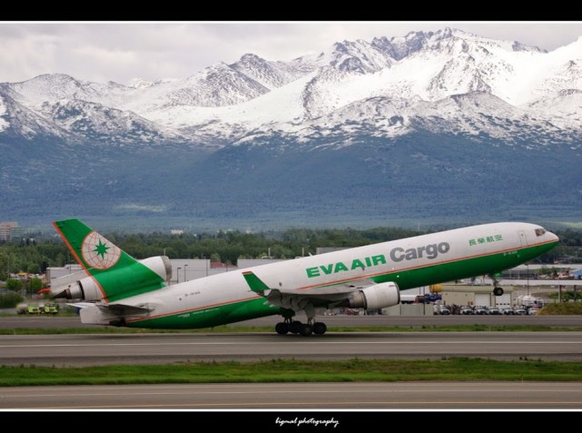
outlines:
{"label": "snow-covered white upper slopes and peaks of the mountain range", "polygon": [[[390,117],[402,117],[403,128],[383,128],[375,113],[366,119],[387,135],[400,134],[409,130],[410,116],[433,116],[423,113],[426,103],[447,105],[444,100],[472,93],[506,102],[512,116],[527,116],[532,127],[550,122],[568,128],[577,126],[582,109],[571,107],[574,111],[564,113],[558,107],[560,101],[572,99],[572,92],[582,91],[582,37],[547,53],[516,41],[446,28],[383,36],[369,43],[338,42],[320,55],[291,62],[246,54],[232,65],[210,65],[181,80],[135,80],[123,86],[55,74],[0,86],[0,95],[8,91],[8,96],[41,116],[47,105],[83,101],[132,112],[127,116],[141,116],[194,141],[193,131],[206,139],[242,136],[257,128],[294,134],[318,118],[325,118],[327,125],[340,112],[350,116],[347,107],[377,97],[392,101]],[[446,116],[447,122],[465,129],[467,116],[457,115]],[[9,123],[6,116],[1,118]],[[62,117],[55,123],[67,129]],[[514,132],[508,128],[506,136]]]}

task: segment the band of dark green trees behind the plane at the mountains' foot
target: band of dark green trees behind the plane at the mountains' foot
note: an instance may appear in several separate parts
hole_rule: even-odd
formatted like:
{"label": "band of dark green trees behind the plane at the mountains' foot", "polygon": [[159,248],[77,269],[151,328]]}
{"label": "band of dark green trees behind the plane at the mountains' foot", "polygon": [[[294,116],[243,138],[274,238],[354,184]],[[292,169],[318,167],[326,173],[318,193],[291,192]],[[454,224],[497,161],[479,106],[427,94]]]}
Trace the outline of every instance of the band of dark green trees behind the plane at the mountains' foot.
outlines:
{"label": "band of dark green trees behind the plane at the mountains' foot", "polygon": [[[316,254],[317,247],[359,247],[425,233],[387,227],[366,230],[295,228],[257,234],[240,231],[198,235],[108,233],[104,236],[137,259],[166,254],[170,258],[206,257],[236,265],[239,258],[258,258],[269,253],[274,258],[292,258]],[[582,257],[578,256],[582,247],[582,230],[555,230],[555,233],[561,239],[560,245],[539,257],[539,261],[547,264],[558,259],[582,262]],[[19,243],[0,243],[0,281],[5,281],[9,272],[43,274],[46,267],[63,267],[69,263],[75,263],[75,260],[60,238],[39,235]]]}

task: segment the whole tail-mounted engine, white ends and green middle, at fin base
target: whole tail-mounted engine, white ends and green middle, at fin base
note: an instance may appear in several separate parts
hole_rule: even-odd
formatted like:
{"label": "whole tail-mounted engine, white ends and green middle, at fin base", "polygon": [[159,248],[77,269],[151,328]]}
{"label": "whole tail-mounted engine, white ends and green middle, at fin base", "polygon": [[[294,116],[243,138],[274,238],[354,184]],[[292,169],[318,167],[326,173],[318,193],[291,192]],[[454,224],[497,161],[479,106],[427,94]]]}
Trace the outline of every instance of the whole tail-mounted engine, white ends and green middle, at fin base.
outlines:
{"label": "whole tail-mounted engine, white ends and green middle, at fin base", "polygon": [[[148,257],[140,260],[138,263],[139,265],[148,267],[165,281],[172,277],[172,264],[166,256]],[[125,296],[136,295],[159,288],[159,286],[154,284],[151,285],[150,289],[150,281],[148,280],[147,274],[139,272],[138,269],[134,271],[132,266],[111,269],[99,276],[100,280],[105,278],[106,280],[115,282],[115,286],[123,287]],[[99,284],[97,284],[95,277],[81,278],[59,291],[61,288],[58,287],[54,290],[55,295],[53,297],[82,299],[85,301],[95,301],[105,298],[105,294]]]}

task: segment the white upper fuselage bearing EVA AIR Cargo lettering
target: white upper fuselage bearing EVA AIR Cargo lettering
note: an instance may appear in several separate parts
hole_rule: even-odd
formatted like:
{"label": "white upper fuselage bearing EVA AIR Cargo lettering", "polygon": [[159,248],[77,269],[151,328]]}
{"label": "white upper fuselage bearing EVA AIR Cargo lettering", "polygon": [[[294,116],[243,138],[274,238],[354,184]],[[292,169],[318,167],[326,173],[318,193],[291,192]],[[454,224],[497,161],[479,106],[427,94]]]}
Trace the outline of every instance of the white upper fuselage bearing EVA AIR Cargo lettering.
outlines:
{"label": "white upper fuselage bearing EVA AIR Cargo lettering", "polygon": [[[536,230],[543,228],[527,223],[493,223],[300,257],[253,267],[252,270],[268,287],[280,290],[313,291],[318,287],[373,279],[386,273],[390,273],[392,280],[398,284],[399,278],[411,269],[489,255],[518,257],[522,249],[557,242],[556,235],[545,230],[543,234],[537,235]],[[528,259],[525,257],[524,261]],[[484,269],[476,277],[486,272],[487,269]],[[127,297],[119,302],[155,307],[153,314],[159,316],[260,298],[248,287],[242,273],[243,270],[236,269],[202,277],[155,292]],[[434,283],[449,280],[447,276],[439,276],[439,280]],[[400,286],[400,289],[405,288],[411,287]]]}

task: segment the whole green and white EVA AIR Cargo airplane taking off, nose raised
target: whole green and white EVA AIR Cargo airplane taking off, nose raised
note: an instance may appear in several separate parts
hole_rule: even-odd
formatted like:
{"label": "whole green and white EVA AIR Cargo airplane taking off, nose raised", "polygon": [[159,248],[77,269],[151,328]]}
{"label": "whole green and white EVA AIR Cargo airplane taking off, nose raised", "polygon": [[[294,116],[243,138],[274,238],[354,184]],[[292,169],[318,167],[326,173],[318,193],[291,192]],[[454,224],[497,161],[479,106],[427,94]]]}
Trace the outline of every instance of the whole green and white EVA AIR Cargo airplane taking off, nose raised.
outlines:
{"label": "whole green and white EVA AIR Cargo airplane taking off, nose raised", "polygon": [[[541,226],[482,224],[299,257],[168,286],[166,256],[136,260],[78,219],[54,221],[87,277],[54,292],[75,299],[84,324],[194,329],[281,315],[277,334],[326,333],[316,310],[377,310],[400,302],[400,290],[493,275],[559,243]],[[495,281],[495,280],[494,280]],[[61,287],[62,288],[62,287]],[[59,288],[55,287],[55,290]],[[503,288],[494,284],[494,294]],[[305,311],[307,322],[294,320]]]}

